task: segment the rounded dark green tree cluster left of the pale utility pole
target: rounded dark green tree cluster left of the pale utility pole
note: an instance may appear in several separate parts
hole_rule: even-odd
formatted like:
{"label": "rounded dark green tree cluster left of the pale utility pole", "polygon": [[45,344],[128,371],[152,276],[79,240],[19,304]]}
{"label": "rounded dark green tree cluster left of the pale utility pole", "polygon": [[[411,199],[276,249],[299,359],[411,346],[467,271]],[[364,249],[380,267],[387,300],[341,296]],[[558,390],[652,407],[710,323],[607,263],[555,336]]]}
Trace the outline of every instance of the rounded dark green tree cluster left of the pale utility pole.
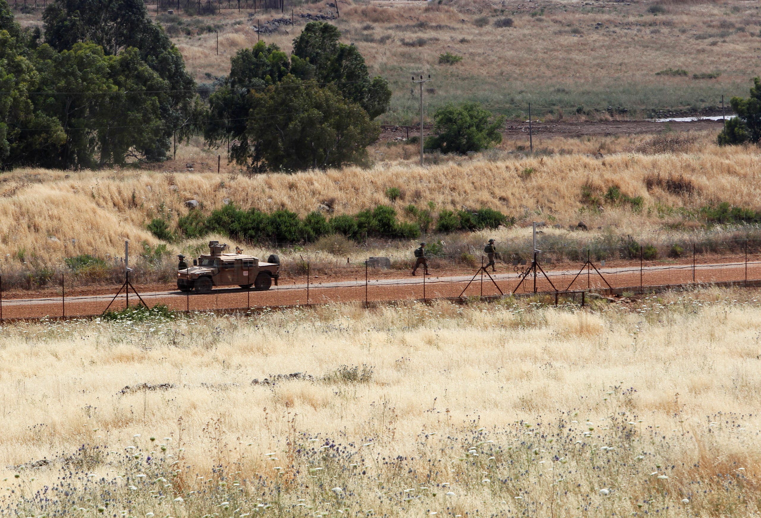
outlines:
{"label": "rounded dark green tree cluster left of the pale utility pole", "polygon": [[290,59],[263,41],[239,50],[209,98],[206,141],[231,142],[230,158],[252,171],[363,161],[378,136],[371,120],[388,109],[391,90],[384,78],[370,78],[357,48],[339,36],[333,25],[313,21],[295,38]]}

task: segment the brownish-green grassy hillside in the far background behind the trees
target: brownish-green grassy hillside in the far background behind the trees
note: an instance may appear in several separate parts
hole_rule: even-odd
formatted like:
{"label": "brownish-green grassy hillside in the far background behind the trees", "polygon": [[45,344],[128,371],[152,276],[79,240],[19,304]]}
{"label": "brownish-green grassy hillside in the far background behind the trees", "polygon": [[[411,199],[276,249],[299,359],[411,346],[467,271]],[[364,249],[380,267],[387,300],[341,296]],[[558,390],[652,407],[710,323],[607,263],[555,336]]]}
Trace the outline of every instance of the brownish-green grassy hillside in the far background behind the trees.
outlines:
{"label": "brownish-green grassy hillside in the far background behind the trees", "polygon": [[[654,8],[653,6],[658,7]],[[388,123],[416,120],[411,75],[431,74],[428,112],[447,101],[481,101],[526,117],[639,117],[658,109],[718,107],[721,94],[747,95],[761,53],[761,14],[753,2],[348,2],[333,21],[355,43],[372,74],[393,87]],[[654,12],[651,12],[654,11]],[[330,14],[323,4],[295,7],[295,27],[263,34],[291,51],[300,14]],[[252,27],[288,13],[223,10],[189,17],[159,14],[199,82],[229,72],[234,53],[256,43]],[[155,17],[154,11],[151,15]],[[497,27],[510,18],[512,27]],[[18,13],[25,25],[40,13]],[[216,53],[215,30],[219,36]],[[441,53],[463,60],[439,63]],[[686,75],[656,75],[682,69]],[[718,78],[703,77],[720,74]],[[609,112],[608,108],[614,110]],[[616,111],[622,107],[629,113]]]}

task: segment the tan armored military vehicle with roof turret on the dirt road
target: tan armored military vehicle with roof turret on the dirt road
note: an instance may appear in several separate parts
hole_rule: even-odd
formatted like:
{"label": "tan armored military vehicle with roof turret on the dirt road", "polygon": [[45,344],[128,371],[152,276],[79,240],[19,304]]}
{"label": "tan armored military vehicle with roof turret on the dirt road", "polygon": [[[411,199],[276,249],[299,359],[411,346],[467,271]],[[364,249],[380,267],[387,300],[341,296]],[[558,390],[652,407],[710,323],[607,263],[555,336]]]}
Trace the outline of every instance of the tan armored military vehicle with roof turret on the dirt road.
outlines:
{"label": "tan armored military vehicle with roof turret on the dirt road", "polygon": [[277,286],[278,256],[272,254],[268,262],[264,262],[253,255],[244,255],[240,248],[236,248],[234,254],[222,253],[226,248],[228,245],[220,245],[219,241],[209,241],[209,255],[193,259],[192,267],[177,271],[177,287],[183,292],[195,289],[196,293],[209,293],[212,286],[240,286],[244,289],[253,286],[263,291],[272,286],[272,280]]}

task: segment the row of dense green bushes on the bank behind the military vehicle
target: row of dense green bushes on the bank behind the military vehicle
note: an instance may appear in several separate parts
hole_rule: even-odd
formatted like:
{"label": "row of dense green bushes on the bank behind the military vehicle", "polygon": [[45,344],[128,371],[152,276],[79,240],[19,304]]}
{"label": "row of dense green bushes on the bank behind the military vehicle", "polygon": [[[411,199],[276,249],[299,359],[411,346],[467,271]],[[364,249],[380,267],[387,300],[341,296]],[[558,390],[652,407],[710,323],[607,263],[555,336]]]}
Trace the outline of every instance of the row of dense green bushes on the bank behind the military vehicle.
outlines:
{"label": "row of dense green bushes on the bank behind the military vehicle", "polygon": [[[416,222],[399,221],[396,210],[386,205],[330,219],[314,211],[301,219],[298,214],[286,209],[268,214],[259,209],[240,209],[231,203],[213,211],[208,217],[199,210],[191,210],[177,220],[177,229],[172,229],[166,219],[155,218],[148,223],[148,230],[164,241],[174,241],[178,236],[199,238],[209,232],[219,232],[244,241],[275,243],[314,242],[323,235],[331,234],[357,241],[368,237],[414,239],[422,232],[428,232],[433,222],[429,209],[410,206],[406,212],[415,216]],[[442,210],[438,213],[435,229],[438,232],[495,229],[499,225],[513,223],[514,218],[493,209],[482,208],[473,213]]]}

